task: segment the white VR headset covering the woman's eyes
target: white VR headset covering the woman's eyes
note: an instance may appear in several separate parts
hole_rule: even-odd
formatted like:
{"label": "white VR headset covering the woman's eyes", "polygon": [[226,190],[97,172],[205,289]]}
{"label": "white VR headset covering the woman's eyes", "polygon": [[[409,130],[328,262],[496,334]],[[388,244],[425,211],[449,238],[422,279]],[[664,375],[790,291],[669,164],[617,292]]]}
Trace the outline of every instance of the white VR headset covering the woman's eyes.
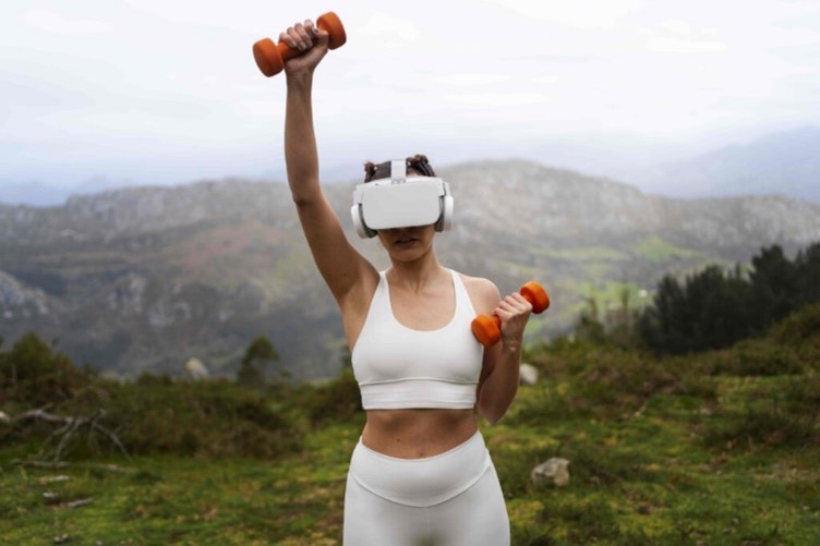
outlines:
{"label": "white VR headset covering the woman's eyes", "polygon": [[436,231],[453,225],[453,195],[444,180],[408,177],[403,159],[390,161],[390,178],[358,184],[350,208],[355,231],[362,239],[381,229],[435,223]]}

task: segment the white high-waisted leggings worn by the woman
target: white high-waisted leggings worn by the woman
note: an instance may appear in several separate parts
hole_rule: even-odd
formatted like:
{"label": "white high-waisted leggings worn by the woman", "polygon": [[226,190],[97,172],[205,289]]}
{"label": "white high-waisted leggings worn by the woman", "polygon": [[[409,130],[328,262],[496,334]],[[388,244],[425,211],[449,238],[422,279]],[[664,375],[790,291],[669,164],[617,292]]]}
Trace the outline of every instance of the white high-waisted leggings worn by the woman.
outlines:
{"label": "white high-waisted leggings worn by the woman", "polygon": [[508,546],[498,476],[480,433],[426,459],[361,441],[345,490],[345,546]]}

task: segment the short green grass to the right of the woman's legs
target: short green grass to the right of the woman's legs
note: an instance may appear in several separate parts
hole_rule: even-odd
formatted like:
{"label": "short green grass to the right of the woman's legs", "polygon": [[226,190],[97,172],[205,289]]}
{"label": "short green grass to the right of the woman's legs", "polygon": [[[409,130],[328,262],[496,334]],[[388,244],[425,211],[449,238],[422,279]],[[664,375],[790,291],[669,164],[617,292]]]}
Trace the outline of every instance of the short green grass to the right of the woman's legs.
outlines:
{"label": "short green grass to the right of the woman's legs", "polygon": [[[487,430],[516,544],[819,544],[820,450],[709,448],[699,430],[723,417],[676,398],[615,422]],[[527,471],[553,456],[570,460],[570,485],[536,489]]]}

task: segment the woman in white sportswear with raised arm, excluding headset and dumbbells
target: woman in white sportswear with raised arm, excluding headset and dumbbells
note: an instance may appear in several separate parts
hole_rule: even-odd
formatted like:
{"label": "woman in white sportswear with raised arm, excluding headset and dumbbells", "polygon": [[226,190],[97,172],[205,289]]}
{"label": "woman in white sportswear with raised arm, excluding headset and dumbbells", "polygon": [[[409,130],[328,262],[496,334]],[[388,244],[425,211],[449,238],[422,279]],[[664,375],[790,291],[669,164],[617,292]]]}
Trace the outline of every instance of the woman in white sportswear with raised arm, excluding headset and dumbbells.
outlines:
{"label": "woman in white sportswear with raised arm, excluding headset and dumbbells", "polygon": [[[305,21],[279,39],[303,51],[285,64],[288,183],[339,305],[366,411],[345,494],[345,544],[509,544],[475,412],[495,423],[516,396],[532,306],[518,293],[502,300],[486,279],[444,268],[433,225],[378,230],[391,264],[386,271],[350,244],[319,185],[313,130],[313,73],[328,35]],[[366,170],[369,179],[383,175],[376,166]],[[432,172],[423,156],[408,161],[408,175]],[[470,331],[480,313],[502,323],[502,340],[489,349]]]}

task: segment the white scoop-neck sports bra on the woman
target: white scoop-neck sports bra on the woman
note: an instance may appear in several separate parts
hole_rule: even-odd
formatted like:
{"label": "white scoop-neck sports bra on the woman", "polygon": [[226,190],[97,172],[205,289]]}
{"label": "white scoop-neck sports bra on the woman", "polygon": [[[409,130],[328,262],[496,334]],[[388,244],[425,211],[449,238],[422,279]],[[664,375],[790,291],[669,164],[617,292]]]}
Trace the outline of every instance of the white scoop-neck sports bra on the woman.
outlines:
{"label": "white scoop-neck sports bra on the woman", "polygon": [[484,350],[470,329],[475,311],[450,270],[456,312],[437,330],[414,330],[393,314],[385,271],[351,355],[365,410],[472,409]]}

